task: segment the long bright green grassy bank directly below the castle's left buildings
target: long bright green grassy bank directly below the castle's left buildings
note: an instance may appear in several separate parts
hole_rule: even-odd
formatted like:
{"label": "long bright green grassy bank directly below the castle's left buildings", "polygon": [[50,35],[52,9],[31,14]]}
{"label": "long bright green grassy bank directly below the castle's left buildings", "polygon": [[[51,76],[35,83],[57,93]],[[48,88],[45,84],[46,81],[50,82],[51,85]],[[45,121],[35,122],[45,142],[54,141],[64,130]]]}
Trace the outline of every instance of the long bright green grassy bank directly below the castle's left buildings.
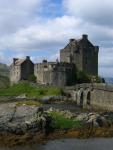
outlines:
{"label": "long bright green grassy bank directly below the castle's left buildings", "polygon": [[18,96],[26,94],[27,97],[57,96],[62,90],[57,87],[33,87],[29,82],[21,82],[6,89],[0,89],[0,96]]}

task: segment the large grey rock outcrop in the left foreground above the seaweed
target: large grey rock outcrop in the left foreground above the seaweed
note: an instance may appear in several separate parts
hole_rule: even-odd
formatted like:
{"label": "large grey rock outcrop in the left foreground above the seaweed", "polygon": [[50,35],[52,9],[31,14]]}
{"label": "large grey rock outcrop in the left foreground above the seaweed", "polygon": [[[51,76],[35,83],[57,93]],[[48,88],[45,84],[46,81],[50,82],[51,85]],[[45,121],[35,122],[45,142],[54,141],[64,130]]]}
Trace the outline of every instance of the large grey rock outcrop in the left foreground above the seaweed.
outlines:
{"label": "large grey rock outcrop in the left foreground above the seaweed", "polygon": [[52,118],[42,107],[0,105],[0,132],[24,134],[51,129]]}

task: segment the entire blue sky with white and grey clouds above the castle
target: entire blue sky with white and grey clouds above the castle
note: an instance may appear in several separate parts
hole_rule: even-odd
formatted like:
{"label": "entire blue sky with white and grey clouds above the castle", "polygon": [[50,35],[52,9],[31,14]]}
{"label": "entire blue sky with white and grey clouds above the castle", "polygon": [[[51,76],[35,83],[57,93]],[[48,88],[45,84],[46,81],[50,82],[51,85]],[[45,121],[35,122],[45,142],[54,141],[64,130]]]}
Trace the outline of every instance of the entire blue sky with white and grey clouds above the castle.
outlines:
{"label": "entire blue sky with white and grey clouds above the castle", "polygon": [[99,45],[99,75],[113,77],[113,0],[0,0],[0,62],[59,58],[70,38]]}

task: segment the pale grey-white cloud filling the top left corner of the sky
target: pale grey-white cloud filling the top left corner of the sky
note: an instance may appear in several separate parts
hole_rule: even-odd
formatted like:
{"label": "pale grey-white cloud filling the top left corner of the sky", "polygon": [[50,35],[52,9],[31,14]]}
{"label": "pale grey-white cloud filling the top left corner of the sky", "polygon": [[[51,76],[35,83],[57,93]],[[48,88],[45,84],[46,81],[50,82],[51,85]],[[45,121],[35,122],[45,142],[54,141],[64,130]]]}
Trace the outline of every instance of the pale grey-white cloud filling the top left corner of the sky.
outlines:
{"label": "pale grey-white cloud filling the top left corner of the sky", "polygon": [[[15,33],[32,23],[44,0],[0,0],[0,35]],[[31,19],[32,18],[32,19]]]}

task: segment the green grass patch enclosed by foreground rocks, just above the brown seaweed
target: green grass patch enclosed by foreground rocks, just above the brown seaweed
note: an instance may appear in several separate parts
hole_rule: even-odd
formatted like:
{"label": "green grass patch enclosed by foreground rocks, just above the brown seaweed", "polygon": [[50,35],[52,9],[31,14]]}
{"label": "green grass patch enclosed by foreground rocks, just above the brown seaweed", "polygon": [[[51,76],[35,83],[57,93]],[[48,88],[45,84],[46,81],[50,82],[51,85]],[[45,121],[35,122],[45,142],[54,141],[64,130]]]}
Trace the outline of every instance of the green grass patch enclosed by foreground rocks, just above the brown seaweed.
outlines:
{"label": "green grass patch enclosed by foreground rocks, just above the brown seaweed", "polygon": [[65,116],[58,112],[51,112],[50,115],[54,119],[53,128],[56,129],[72,129],[72,128],[82,128],[81,121],[75,121],[73,119],[67,119]]}

